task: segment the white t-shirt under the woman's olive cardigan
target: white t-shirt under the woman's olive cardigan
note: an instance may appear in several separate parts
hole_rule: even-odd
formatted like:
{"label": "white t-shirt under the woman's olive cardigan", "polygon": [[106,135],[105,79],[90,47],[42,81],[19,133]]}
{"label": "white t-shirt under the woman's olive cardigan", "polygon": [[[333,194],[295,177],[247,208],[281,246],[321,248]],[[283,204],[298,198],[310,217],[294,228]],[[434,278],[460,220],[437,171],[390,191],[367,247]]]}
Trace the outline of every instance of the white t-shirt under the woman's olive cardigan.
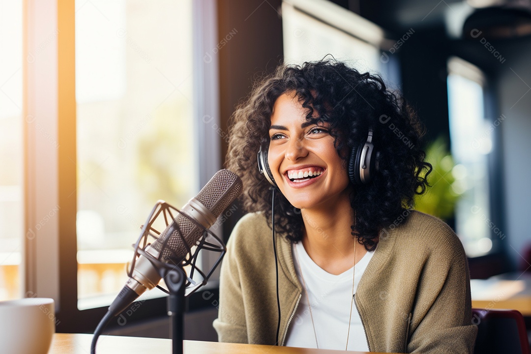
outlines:
{"label": "white t-shirt under the woman's olive cardigan", "polygon": [[[297,253],[296,255],[295,252]],[[292,246],[292,253],[297,277],[301,284],[304,285],[297,259],[303,269],[306,289],[309,291],[308,296],[312,305],[313,322],[319,348],[345,350],[350,302],[352,299],[353,269],[350,268],[339,275],[328,273],[313,262],[312,258],[306,253],[302,242]],[[359,279],[365,272],[373,254],[374,251],[367,252],[356,264],[354,293]],[[312,318],[310,317],[304,290],[295,316],[289,325],[286,346],[316,348]],[[352,319],[350,321],[347,350],[369,351],[365,330],[354,303],[352,304]]]}

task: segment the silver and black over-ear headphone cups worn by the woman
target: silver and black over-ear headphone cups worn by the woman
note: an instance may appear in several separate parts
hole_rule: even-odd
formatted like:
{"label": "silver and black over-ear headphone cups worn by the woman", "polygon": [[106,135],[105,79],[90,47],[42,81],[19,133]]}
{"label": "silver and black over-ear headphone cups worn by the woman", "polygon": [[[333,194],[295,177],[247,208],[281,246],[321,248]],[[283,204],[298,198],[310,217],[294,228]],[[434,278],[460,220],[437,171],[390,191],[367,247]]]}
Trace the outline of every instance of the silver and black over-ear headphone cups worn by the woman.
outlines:
{"label": "silver and black over-ear headphone cups worn by the woman", "polygon": [[[372,143],[373,131],[369,130],[367,140],[359,146],[354,146],[350,151],[348,158],[348,178],[350,182],[357,185],[369,184],[378,171],[379,152],[374,151],[374,144]],[[260,146],[258,151],[258,169],[264,175],[268,182],[276,187],[275,178],[271,173],[268,163],[268,146]]]}

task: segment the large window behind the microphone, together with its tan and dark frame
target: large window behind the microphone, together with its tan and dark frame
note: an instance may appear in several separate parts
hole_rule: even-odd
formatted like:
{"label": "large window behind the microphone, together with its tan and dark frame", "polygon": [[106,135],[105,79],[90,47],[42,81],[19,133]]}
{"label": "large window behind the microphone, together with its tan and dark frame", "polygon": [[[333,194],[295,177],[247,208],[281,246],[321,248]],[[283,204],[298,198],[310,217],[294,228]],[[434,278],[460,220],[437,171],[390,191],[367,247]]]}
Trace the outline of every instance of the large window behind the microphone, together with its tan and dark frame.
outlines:
{"label": "large window behind the microphone, together with its tan and dark frame", "polygon": [[156,201],[180,208],[220,168],[212,4],[23,7],[23,291],[55,299],[59,332],[94,329]]}

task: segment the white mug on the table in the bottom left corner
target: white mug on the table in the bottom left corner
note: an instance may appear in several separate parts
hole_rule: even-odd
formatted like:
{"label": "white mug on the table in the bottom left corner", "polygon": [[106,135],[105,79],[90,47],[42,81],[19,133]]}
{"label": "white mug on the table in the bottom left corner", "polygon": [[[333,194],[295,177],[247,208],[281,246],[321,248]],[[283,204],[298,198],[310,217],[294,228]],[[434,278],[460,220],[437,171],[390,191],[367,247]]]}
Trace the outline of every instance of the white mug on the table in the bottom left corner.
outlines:
{"label": "white mug on the table in the bottom left corner", "polygon": [[54,333],[53,299],[0,301],[0,352],[46,354]]}

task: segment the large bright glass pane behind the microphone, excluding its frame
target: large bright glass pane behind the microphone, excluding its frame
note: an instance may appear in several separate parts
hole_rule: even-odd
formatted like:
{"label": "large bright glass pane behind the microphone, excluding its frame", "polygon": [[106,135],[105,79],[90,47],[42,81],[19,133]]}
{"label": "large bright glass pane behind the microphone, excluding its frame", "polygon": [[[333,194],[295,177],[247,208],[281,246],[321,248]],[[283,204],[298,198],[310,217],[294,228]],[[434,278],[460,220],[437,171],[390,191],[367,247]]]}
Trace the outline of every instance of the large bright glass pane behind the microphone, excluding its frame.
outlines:
{"label": "large bright glass pane behind the microphone, excluding its frame", "polygon": [[76,1],[80,308],[123,287],[157,200],[181,208],[197,191],[191,14],[190,1]]}

